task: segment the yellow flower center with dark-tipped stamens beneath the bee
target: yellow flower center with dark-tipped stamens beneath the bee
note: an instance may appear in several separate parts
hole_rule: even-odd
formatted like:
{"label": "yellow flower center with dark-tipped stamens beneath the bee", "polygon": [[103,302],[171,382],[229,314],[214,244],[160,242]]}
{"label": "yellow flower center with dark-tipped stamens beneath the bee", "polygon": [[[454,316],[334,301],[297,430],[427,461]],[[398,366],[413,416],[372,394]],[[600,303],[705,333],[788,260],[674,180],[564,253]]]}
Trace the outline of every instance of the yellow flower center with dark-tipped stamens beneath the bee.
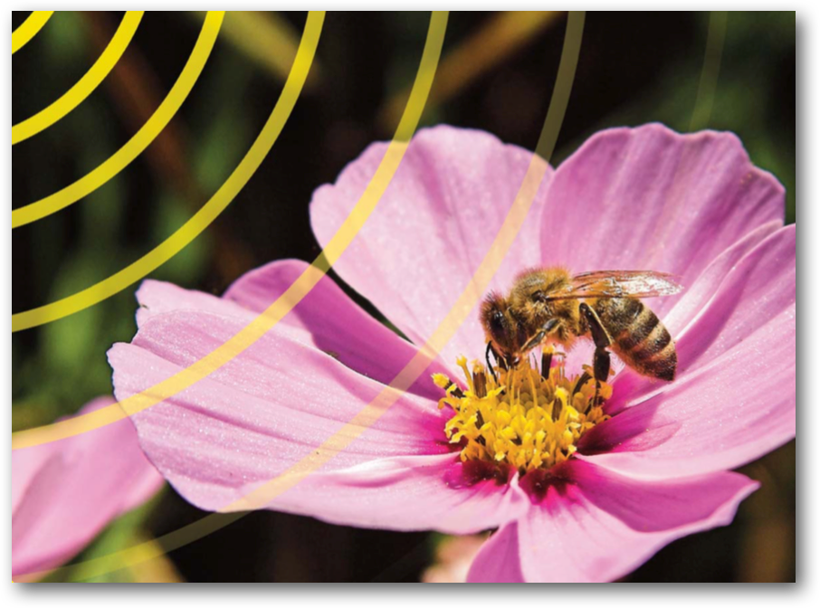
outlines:
{"label": "yellow flower center with dark-tipped stamens beneath the bee", "polygon": [[488,375],[477,362],[471,373],[467,360],[460,358],[466,390],[445,375],[434,375],[446,392],[439,408],[449,406],[455,413],[444,432],[462,446],[463,462],[508,465],[522,475],[547,470],[571,458],[578,440],[609,420],[603,405],[612,396],[610,385],[598,387],[588,374],[568,378],[563,362],[551,363],[552,356],[545,355],[540,370],[525,361]]}

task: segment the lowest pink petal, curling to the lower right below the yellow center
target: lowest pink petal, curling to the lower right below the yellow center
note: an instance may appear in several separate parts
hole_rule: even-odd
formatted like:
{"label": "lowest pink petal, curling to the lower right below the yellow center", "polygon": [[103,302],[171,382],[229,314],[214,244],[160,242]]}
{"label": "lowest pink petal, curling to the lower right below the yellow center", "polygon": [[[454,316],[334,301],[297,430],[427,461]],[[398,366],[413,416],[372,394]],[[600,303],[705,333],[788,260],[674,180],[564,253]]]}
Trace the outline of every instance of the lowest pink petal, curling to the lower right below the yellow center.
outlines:
{"label": "lowest pink petal, curling to the lower right below the yellow center", "polygon": [[[736,473],[642,482],[579,461],[569,464],[567,475],[572,485],[550,488],[517,527],[485,547],[473,565],[472,581],[615,581],[674,540],[728,526],[739,503],[758,489]],[[522,577],[515,565],[493,563],[496,550],[501,548],[509,561],[516,545]]]}

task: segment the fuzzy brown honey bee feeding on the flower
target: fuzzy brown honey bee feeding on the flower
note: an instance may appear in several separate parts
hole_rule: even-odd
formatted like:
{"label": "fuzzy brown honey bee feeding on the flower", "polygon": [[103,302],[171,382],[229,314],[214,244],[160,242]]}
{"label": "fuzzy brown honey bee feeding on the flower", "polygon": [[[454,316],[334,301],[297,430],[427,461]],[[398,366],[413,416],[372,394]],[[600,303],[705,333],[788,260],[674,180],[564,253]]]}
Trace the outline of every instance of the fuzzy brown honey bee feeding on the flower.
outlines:
{"label": "fuzzy brown honey bee feeding on the flower", "polygon": [[591,337],[597,382],[609,377],[610,349],[639,374],[672,382],[678,368],[675,343],[641,299],[673,296],[682,289],[671,275],[652,271],[523,272],[508,296],[491,293],[483,302],[489,369],[494,375],[491,354],[499,365],[518,366],[541,345],[569,350],[579,337]]}

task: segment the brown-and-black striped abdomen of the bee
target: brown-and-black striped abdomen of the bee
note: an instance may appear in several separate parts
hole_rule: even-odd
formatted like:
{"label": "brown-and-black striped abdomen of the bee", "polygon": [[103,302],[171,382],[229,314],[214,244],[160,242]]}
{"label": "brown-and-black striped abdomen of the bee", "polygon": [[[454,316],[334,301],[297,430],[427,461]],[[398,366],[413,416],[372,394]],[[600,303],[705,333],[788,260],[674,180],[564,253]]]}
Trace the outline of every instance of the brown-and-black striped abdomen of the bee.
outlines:
{"label": "brown-and-black striped abdomen of the bee", "polygon": [[590,300],[613,339],[612,350],[635,371],[672,382],[678,371],[678,352],[669,331],[640,299]]}

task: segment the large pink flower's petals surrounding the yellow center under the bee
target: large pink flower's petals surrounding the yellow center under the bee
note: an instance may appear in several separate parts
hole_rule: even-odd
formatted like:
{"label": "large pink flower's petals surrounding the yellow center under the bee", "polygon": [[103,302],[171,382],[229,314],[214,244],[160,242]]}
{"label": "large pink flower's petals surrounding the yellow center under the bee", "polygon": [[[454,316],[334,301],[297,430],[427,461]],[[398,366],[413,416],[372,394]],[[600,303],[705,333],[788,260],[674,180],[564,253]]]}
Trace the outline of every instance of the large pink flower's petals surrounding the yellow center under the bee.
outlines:
{"label": "large pink flower's petals surrounding the yellow center under the bee", "polygon": [[[310,211],[320,243],[350,213],[385,150],[368,148],[316,193]],[[135,417],[167,480],[197,507],[220,510],[344,428],[468,288],[530,159],[482,132],[419,133],[335,266],[413,344],[322,280],[242,356]],[[728,525],[758,488],[728,471],[796,437],[796,227],[783,227],[784,198],[732,135],[682,136],[657,125],[598,134],[548,171],[491,288],[508,289],[533,266],[671,272],[687,290],[648,303],[677,339],[678,379],[666,385],[622,371],[606,404],[612,419],[587,420],[594,428],[583,427],[577,442],[570,436],[550,470],[522,476],[462,463],[463,444],[448,441],[453,429],[445,433],[454,413],[437,407],[444,394],[430,375],[446,384],[444,375],[458,377],[457,357],[483,356],[476,308],[428,375],[269,508],[392,530],[498,528],[472,566],[475,582],[612,581],[677,538]],[[305,268],[274,262],[222,299],[145,283],[137,337],[110,352],[118,398],[222,345]],[[570,355],[573,365],[590,362]],[[576,414],[567,422],[574,429],[585,424]],[[521,442],[519,435],[513,445]]]}

